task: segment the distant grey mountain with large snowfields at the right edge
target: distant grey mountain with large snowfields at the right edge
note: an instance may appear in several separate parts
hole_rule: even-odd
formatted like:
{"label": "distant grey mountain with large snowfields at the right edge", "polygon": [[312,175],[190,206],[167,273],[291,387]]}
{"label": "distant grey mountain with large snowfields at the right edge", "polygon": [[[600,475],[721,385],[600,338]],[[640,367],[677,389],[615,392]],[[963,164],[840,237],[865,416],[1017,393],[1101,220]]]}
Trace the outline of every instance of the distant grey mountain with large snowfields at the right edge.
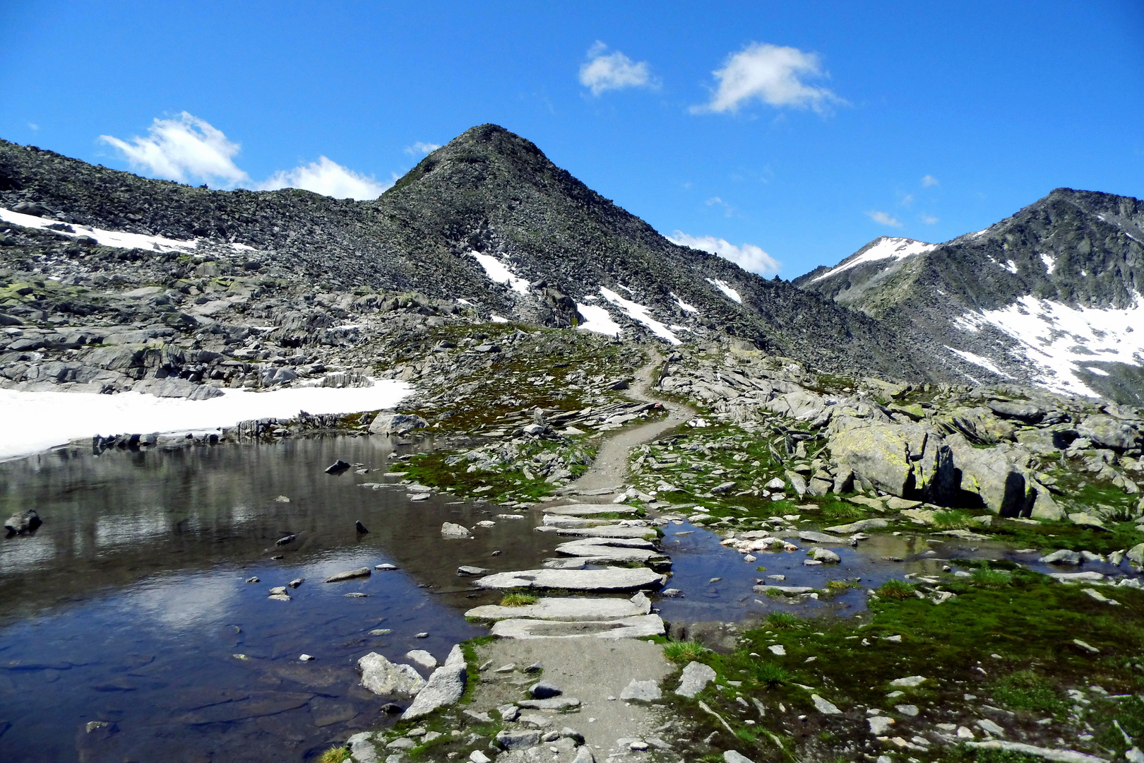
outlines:
{"label": "distant grey mountain with large snowfields at the right edge", "polygon": [[944,244],[879,238],[795,279],[980,381],[1144,402],[1144,201],[1056,189]]}

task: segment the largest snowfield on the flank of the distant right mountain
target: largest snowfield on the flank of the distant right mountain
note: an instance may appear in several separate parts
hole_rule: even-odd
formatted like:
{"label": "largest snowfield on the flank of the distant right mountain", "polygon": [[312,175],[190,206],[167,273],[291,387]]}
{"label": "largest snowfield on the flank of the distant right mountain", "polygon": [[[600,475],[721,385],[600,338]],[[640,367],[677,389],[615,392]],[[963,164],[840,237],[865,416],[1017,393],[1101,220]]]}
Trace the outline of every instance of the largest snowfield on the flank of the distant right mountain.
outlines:
{"label": "largest snowfield on the flank of the distant right mountain", "polygon": [[[963,331],[990,325],[1020,343],[1017,351],[1034,367],[1035,381],[1064,395],[1097,397],[1077,375],[1093,360],[1144,365],[1144,299],[1130,308],[1071,308],[1052,300],[1023,296],[998,310],[967,312],[955,321]],[[1094,372],[1095,373],[1095,372]]]}

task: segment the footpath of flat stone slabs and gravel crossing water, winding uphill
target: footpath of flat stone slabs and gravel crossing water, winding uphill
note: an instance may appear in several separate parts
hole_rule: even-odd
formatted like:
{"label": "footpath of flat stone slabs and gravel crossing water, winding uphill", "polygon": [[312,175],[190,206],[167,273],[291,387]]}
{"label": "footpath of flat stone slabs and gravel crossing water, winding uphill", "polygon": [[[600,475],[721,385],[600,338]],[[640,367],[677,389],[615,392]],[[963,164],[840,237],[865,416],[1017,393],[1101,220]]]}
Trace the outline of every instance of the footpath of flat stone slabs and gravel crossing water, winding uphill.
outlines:
{"label": "footpath of flat stone slabs and gravel crossing water, winding uphill", "polygon": [[[658,402],[648,390],[662,360],[653,350],[629,397]],[[601,445],[591,468],[563,491],[580,502],[565,499],[545,506],[537,530],[569,538],[555,547],[559,557],[546,559],[540,570],[503,572],[476,581],[490,589],[613,594],[548,596],[524,606],[488,605],[466,612],[468,618],[491,621],[491,633],[500,636],[478,650],[480,686],[474,701],[476,712],[496,708],[503,715],[508,709],[508,716],[516,717],[506,723],[508,752],[498,761],[524,763],[542,755],[554,763],[593,763],[605,757],[637,763],[650,755],[648,750],[666,749],[658,737],[664,718],[654,712],[654,704],[660,697],[659,682],[673,667],[658,644],[645,641],[662,635],[665,623],[643,591],[658,590],[667,582],[668,577],[661,573],[670,569],[670,559],[659,549],[651,522],[637,517],[631,507],[612,503],[626,480],[631,447],[696,415],[676,403],[664,406],[666,419],[621,431]],[[607,515],[613,516],[601,518]],[[614,515],[631,518],[617,519]],[[648,566],[581,569],[630,563]],[[631,596],[633,590],[638,593]],[[614,596],[620,591],[627,594]],[[542,666],[545,681],[563,692],[559,697],[539,702],[525,699],[534,674],[523,670],[535,663]],[[633,685],[638,685],[642,700],[634,699]],[[565,726],[581,734],[585,744],[541,740],[546,733],[556,737],[554,732]]]}

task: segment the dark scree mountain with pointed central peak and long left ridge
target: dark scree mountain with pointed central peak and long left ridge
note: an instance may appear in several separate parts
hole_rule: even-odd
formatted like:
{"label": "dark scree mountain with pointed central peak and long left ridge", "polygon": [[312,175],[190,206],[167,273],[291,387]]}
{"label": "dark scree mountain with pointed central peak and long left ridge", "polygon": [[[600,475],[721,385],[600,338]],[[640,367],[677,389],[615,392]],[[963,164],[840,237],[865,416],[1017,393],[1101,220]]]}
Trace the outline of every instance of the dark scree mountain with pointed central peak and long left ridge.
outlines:
{"label": "dark scree mountain with pointed central peak and long left ridge", "polygon": [[672,244],[494,125],[466,132],[363,202],[210,191],[0,143],[0,206],[18,205],[66,223],[199,238],[214,257],[318,292],[416,291],[487,316],[618,321],[669,341],[717,329],[828,371],[946,377],[860,312]]}

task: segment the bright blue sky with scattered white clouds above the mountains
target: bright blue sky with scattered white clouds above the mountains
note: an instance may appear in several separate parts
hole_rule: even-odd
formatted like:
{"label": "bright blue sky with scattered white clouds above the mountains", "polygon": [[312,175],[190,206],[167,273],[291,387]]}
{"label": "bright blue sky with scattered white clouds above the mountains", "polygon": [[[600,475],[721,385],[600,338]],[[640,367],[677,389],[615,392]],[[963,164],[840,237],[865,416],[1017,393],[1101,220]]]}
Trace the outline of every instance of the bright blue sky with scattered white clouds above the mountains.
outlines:
{"label": "bright blue sky with scattered white clouds above the mountains", "polygon": [[1138,0],[709,5],[0,3],[0,137],[368,196],[495,122],[784,278],[1062,185],[1144,198]]}

